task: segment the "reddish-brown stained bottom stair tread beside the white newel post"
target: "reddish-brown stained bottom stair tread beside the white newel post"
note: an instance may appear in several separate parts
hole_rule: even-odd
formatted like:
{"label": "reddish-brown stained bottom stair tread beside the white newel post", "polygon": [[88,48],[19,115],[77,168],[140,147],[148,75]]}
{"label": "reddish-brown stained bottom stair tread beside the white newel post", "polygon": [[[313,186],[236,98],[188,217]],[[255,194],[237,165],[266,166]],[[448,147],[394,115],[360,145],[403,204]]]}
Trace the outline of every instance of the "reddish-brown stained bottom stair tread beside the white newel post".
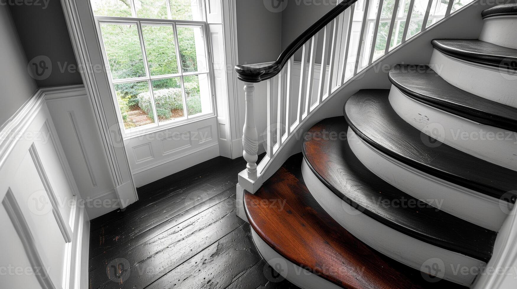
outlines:
{"label": "reddish-brown stained bottom stair tread beside the white newel post", "polygon": [[[301,154],[289,158],[254,194],[245,193],[245,210],[257,234],[292,263],[344,288],[466,288],[440,280],[373,250],[342,229],[303,183]],[[273,203],[275,202],[275,203]],[[280,210],[279,202],[285,202]]]}

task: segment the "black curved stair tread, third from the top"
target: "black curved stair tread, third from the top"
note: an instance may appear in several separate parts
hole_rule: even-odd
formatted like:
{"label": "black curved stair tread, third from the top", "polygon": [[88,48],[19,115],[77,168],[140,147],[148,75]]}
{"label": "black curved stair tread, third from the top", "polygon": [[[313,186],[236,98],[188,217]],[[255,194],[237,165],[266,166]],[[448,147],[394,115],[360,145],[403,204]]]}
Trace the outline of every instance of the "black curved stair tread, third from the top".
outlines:
{"label": "black curved stair tread, third from the top", "polygon": [[461,90],[429,66],[397,65],[389,72],[389,79],[417,101],[481,124],[517,132],[517,108]]}

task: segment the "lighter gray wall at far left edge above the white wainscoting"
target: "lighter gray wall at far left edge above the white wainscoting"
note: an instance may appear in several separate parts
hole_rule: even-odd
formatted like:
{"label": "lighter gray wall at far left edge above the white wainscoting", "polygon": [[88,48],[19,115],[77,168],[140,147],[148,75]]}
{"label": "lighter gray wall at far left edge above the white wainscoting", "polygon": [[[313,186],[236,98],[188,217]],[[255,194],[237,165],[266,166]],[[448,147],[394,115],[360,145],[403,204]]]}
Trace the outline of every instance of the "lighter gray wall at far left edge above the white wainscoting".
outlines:
{"label": "lighter gray wall at far left edge above the white wainscoting", "polygon": [[36,91],[9,7],[0,5],[0,126]]}

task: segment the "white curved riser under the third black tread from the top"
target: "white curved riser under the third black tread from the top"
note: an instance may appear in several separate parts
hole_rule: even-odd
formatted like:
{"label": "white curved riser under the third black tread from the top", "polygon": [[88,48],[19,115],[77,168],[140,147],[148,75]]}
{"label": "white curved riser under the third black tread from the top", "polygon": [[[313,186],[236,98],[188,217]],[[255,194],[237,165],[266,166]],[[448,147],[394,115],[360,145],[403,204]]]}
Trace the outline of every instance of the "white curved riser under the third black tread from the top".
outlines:
{"label": "white curved riser under the third black tread from the top", "polygon": [[[517,171],[517,133],[472,122],[423,104],[393,85],[389,101],[402,119],[422,133],[462,152]],[[433,145],[436,144],[430,143]]]}

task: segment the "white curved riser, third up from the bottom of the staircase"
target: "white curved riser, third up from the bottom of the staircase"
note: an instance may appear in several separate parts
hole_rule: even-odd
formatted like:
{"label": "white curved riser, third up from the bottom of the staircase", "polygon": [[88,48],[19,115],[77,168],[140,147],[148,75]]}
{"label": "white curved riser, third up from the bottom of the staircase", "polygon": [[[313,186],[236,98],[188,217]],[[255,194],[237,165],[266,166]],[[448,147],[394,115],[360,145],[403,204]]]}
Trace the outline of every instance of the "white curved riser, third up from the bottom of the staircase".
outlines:
{"label": "white curved riser, third up from the bottom of the staircase", "polygon": [[361,163],[392,186],[422,201],[443,201],[440,210],[483,228],[499,231],[506,214],[501,211],[498,199],[403,164],[364,142],[352,129],[348,129],[347,138]]}

